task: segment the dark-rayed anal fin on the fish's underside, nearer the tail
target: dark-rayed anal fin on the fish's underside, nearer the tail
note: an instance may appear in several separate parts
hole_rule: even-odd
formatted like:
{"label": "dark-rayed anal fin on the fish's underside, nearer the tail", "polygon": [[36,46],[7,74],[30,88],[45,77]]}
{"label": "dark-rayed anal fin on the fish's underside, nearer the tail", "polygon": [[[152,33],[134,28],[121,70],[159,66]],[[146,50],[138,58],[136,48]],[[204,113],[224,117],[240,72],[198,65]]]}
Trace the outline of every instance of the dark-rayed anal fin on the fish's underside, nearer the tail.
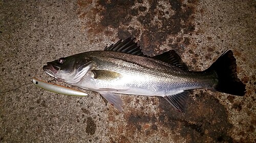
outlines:
{"label": "dark-rayed anal fin on the fish's underside, nearer the tail", "polygon": [[184,112],[186,109],[187,99],[189,97],[188,93],[188,91],[184,91],[175,95],[167,95],[163,98],[167,100],[175,109],[180,112]]}

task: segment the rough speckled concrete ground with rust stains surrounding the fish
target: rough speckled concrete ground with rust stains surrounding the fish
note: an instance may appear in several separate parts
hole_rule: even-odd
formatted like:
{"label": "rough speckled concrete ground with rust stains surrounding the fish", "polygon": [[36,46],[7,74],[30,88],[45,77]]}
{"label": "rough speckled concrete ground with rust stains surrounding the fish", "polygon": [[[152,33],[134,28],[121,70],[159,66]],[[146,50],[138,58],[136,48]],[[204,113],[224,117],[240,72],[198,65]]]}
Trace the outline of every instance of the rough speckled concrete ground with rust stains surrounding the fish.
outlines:
{"label": "rough speckled concrete ground with rust stains surrounding the fish", "polygon": [[[0,142],[256,142],[255,6],[0,0]],[[94,92],[69,97],[30,83],[32,77],[52,79],[42,70],[49,61],[101,50],[129,36],[148,55],[175,49],[197,71],[231,49],[247,93],[194,90],[185,113],[162,98],[122,95],[124,112],[118,112]]]}

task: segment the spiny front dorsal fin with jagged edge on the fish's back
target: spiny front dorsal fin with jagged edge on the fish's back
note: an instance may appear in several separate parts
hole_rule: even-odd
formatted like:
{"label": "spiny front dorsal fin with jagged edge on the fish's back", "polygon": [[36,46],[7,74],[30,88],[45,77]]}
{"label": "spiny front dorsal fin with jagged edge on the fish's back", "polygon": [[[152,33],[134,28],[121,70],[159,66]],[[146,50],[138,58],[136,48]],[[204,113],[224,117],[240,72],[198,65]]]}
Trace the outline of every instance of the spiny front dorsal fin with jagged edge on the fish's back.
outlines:
{"label": "spiny front dorsal fin with jagged edge on the fish's back", "polygon": [[136,42],[134,42],[134,39],[135,38],[132,39],[132,37],[129,37],[129,38],[125,39],[124,41],[122,41],[122,39],[120,39],[115,44],[112,44],[109,47],[106,46],[104,50],[125,52],[125,53],[145,56],[143,54],[143,52],[141,51],[140,46],[138,46],[138,44]]}

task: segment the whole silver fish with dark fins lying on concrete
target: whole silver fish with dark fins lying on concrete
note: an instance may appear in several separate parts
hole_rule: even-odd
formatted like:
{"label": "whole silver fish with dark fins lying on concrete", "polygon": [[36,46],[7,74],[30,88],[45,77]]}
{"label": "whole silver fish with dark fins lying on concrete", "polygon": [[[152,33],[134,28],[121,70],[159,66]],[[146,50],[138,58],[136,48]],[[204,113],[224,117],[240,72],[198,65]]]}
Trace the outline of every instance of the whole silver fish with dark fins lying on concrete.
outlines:
{"label": "whole silver fish with dark fins lying on concrete", "polygon": [[209,89],[244,96],[236,59],[225,51],[208,69],[189,71],[171,49],[155,56],[144,54],[135,38],[119,40],[104,50],[87,51],[48,62],[44,71],[75,87],[99,93],[122,111],[119,94],[163,97],[184,112],[189,91]]}

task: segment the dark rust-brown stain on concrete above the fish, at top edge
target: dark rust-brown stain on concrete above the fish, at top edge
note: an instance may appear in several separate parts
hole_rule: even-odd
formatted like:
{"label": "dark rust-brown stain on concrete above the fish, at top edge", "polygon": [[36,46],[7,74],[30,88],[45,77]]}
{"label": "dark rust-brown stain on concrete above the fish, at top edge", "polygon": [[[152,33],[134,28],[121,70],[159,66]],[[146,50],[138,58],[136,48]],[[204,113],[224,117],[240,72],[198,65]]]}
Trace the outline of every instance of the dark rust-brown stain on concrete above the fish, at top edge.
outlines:
{"label": "dark rust-brown stain on concrete above the fish, at top edge", "polygon": [[[78,1],[80,19],[86,20],[89,35],[113,36],[125,39],[134,36],[140,39],[140,45],[148,55],[159,52],[159,47],[166,44],[173,49],[182,50],[189,45],[188,37],[195,32],[194,16],[198,1]],[[148,6],[146,3],[149,3]],[[94,8],[90,8],[95,5]],[[88,13],[86,10],[90,10]],[[97,18],[98,17],[98,18]],[[136,28],[134,23],[137,23]],[[138,24],[139,23],[139,24]],[[92,37],[93,37],[92,36]]]}

